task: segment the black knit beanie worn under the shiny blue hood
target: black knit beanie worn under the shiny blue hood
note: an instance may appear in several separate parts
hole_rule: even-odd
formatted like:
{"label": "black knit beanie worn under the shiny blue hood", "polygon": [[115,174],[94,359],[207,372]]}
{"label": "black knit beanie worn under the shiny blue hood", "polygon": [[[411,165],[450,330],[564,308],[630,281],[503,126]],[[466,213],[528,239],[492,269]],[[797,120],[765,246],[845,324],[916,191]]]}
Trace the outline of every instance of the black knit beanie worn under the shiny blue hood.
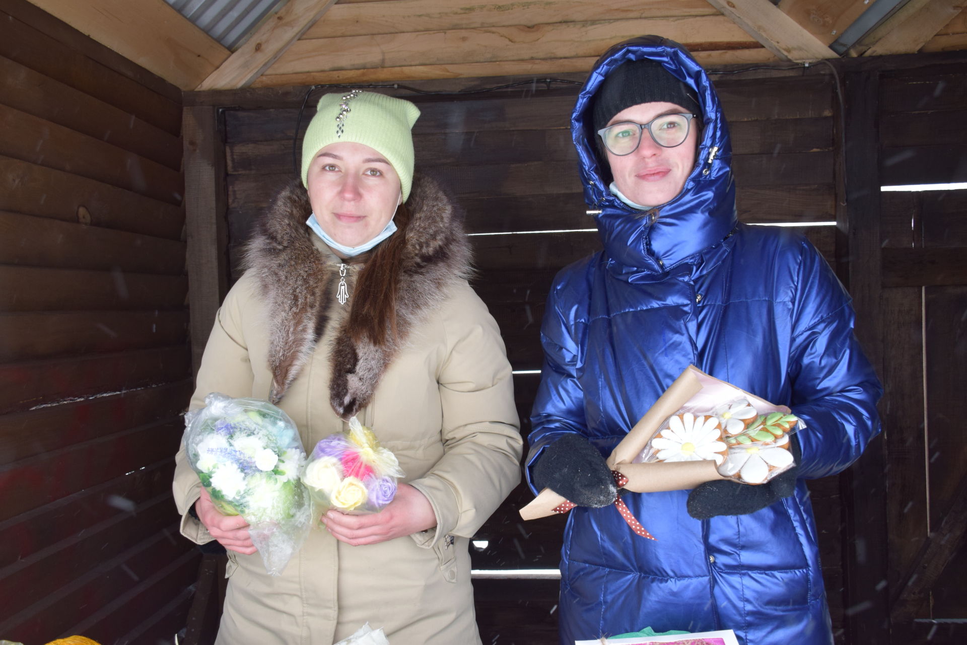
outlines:
{"label": "black knit beanie worn under the shiny blue hood", "polygon": [[591,112],[594,132],[631,105],[656,102],[675,103],[702,116],[695,92],[661,63],[650,59],[626,61],[608,74],[595,94]]}

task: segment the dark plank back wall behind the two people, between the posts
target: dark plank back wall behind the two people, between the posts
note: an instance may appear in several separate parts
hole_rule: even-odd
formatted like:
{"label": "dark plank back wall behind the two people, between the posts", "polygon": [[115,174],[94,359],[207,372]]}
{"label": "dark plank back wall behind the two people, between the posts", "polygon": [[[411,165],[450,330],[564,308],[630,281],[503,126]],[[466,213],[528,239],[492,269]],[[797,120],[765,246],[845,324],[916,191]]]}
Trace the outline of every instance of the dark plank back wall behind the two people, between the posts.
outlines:
{"label": "dark plank back wall behind the two people, between the posts", "polygon": [[[467,82],[462,79],[460,86]],[[741,220],[805,224],[806,235],[833,261],[835,226],[809,225],[836,219],[832,76],[759,71],[722,74],[716,84],[733,134]],[[414,127],[418,167],[441,177],[467,213],[479,270],[474,287],[500,324],[515,370],[541,368],[539,330],[554,274],[600,247],[597,232],[580,230],[594,229],[595,223],[586,214],[569,130],[577,90],[576,84],[560,83],[461,97],[407,95],[422,110]],[[239,275],[238,245],[252,220],[293,176],[293,135],[302,103],[294,92],[236,96],[242,104],[223,113],[233,278]],[[302,131],[318,96],[313,93],[309,101]],[[525,437],[539,379],[538,374],[514,377]],[[839,484],[831,478],[811,488],[838,629],[843,610]],[[475,569],[557,568],[564,519],[521,521],[517,509],[531,498],[526,486],[519,486],[484,525],[476,539],[487,541],[487,547],[471,547]],[[556,642],[556,579],[478,579],[475,586],[484,642]]]}

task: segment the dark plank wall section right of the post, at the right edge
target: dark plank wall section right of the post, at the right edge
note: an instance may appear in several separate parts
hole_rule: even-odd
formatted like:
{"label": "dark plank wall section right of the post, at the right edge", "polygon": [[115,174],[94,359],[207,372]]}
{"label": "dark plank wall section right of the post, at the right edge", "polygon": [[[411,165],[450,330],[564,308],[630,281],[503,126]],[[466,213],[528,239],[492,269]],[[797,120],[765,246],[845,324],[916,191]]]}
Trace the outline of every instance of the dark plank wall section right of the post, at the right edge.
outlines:
{"label": "dark plank wall section right of the post, at the right edge", "polygon": [[[882,184],[967,182],[967,65],[883,73],[879,84]],[[894,630],[906,642],[962,642],[967,191],[883,192],[881,207]],[[929,622],[951,619],[960,623]]]}

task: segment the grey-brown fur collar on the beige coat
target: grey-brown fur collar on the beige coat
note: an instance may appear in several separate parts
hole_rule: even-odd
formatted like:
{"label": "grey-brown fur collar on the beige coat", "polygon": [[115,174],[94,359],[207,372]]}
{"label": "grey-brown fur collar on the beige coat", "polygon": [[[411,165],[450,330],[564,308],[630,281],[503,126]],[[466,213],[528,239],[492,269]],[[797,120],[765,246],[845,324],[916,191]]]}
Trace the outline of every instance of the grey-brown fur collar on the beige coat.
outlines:
{"label": "grey-brown fur collar on the beige coat", "polygon": [[[403,267],[396,298],[398,339],[373,344],[349,335],[349,304],[336,300],[339,262],[312,243],[306,225],[308,195],[296,181],[278,193],[246,249],[246,266],[258,280],[269,318],[273,403],[299,376],[326,329],[336,326],[330,348],[330,402],[343,419],[366,406],[386,367],[425,314],[439,307],[448,287],[470,275],[470,246],[461,215],[439,185],[417,175],[407,206]],[[347,277],[350,298],[355,272]]]}

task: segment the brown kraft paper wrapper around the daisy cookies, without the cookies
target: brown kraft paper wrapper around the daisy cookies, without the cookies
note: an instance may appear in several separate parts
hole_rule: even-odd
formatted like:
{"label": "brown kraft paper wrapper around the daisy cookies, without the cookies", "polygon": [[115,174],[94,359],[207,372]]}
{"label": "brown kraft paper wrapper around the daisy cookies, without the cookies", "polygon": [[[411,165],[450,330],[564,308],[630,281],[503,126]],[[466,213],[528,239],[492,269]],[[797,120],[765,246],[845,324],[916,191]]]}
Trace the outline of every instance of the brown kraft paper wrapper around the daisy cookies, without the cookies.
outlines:
{"label": "brown kraft paper wrapper around the daisy cookies, without the cookies", "polygon": [[[668,386],[664,394],[659,396],[648,412],[633,425],[611,454],[607,458],[607,465],[628,478],[624,488],[632,492],[647,493],[665,490],[689,490],[698,484],[726,480],[718,474],[716,462],[708,459],[704,461],[674,461],[652,463],[631,463],[641,454],[648,441],[665,419],[682,409],[686,404],[698,408],[713,409],[722,399],[722,388],[746,396],[760,414],[765,412],[789,412],[783,405],[773,405],[759,396],[750,395],[735,386],[709,376],[695,366],[688,366]],[[554,509],[567,502],[550,488],[544,488],[541,493],[531,500],[530,504],[520,509],[520,516],[524,519],[537,519],[554,514]]]}

